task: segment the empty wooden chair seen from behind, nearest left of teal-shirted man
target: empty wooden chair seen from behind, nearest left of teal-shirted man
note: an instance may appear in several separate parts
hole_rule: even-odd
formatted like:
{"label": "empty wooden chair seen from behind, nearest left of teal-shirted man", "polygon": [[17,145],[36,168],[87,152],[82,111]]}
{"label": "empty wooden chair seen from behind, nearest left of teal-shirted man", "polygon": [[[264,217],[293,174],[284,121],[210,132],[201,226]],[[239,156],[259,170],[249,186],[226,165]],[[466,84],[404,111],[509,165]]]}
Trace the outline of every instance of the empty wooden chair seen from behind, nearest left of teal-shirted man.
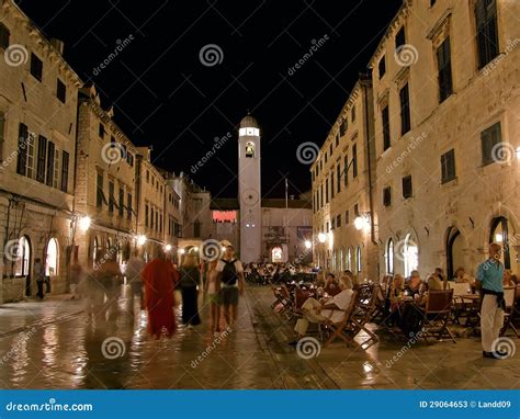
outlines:
{"label": "empty wooden chair seen from behind, nearest left of teal-shirted man", "polygon": [[453,288],[442,291],[429,291],[426,307],[419,307],[422,312],[421,336],[428,343],[429,337],[436,337],[440,340],[443,336],[449,336],[453,343],[455,338],[448,328],[451,310],[453,307]]}

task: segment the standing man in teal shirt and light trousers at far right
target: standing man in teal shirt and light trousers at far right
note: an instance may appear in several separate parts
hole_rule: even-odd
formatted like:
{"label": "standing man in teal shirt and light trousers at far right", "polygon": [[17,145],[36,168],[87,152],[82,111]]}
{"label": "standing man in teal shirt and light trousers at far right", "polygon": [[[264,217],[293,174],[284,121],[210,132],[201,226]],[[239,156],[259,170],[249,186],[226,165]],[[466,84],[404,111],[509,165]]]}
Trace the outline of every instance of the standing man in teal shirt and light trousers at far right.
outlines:
{"label": "standing man in teal shirt and light trousers at far right", "polygon": [[477,269],[476,286],[481,290],[481,333],[484,358],[504,359],[507,352],[495,350],[504,326],[504,264],[500,262],[501,247],[489,245],[489,258]]}

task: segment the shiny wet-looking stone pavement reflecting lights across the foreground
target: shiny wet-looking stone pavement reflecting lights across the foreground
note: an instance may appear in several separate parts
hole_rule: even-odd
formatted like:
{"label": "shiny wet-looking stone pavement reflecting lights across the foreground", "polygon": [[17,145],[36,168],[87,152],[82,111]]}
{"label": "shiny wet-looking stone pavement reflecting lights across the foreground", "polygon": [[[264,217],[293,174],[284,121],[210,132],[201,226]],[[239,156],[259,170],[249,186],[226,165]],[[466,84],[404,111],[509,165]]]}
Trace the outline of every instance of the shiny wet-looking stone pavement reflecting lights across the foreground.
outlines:
{"label": "shiny wet-looking stone pavement reflecting lights across the foreground", "polygon": [[[293,321],[273,313],[269,287],[249,286],[239,319],[222,338],[203,324],[170,340],[146,336],[146,316],[128,287],[105,301],[0,306],[1,388],[519,388],[519,355],[482,358],[477,337],[403,351],[404,337],[377,329],[369,349],[337,341],[303,359],[287,346]],[[90,303],[90,304],[88,304]],[[178,313],[179,320],[179,313]],[[360,340],[362,337],[358,337]],[[518,339],[512,339],[513,343]],[[103,346],[105,342],[105,346]],[[396,356],[396,358],[394,358]],[[392,365],[389,360],[397,359]]]}

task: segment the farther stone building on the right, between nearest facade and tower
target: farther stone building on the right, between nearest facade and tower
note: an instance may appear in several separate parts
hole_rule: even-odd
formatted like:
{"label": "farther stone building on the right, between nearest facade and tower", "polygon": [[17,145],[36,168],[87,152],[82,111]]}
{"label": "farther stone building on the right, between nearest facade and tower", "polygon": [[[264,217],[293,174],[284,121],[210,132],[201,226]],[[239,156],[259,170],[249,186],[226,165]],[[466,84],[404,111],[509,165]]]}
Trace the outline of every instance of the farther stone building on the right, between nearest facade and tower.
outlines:
{"label": "farther stone building on the right, between nearest facade and tower", "polygon": [[339,274],[377,278],[375,161],[370,78],[352,89],[317,159],[313,177],[314,260]]}

